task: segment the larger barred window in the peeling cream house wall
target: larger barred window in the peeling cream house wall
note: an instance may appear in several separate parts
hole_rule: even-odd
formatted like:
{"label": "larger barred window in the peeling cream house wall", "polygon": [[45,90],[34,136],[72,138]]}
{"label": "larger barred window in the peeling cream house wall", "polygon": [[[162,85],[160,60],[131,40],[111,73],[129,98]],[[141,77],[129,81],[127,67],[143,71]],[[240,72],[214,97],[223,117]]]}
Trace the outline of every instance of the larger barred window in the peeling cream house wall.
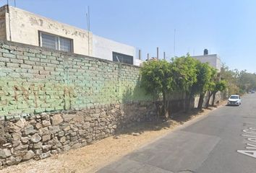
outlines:
{"label": "larger barred window in the peeling cream house wall", "polygon": [[51,35],[45,32],[39,32],[39,34],[41,47],[72,52],[73,41],[71,39],[60,37],[58,35]]}

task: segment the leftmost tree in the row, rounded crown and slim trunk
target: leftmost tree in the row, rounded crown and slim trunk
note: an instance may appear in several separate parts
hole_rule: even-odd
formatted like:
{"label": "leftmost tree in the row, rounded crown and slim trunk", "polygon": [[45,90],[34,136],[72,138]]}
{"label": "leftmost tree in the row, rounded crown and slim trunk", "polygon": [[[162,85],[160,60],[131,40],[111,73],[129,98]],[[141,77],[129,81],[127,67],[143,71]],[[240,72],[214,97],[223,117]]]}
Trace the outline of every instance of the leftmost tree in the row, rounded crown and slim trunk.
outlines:
{"label": "leftmost tree in the row, rounded crown and slim trunk", "polygon": [[171,64],[165,60],[147,61],[140,69],[142,86],[146,92],[161,94],[163,96],[163,107],[161,116],[168,117],[168,94],[174,89],[174,79]]}

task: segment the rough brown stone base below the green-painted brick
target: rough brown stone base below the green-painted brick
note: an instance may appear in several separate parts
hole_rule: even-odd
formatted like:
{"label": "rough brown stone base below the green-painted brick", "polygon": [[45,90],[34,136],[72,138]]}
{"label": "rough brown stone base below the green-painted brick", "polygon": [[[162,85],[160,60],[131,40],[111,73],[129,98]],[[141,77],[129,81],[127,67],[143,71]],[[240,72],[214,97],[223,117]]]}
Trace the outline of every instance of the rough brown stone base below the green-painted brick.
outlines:
{"label": "rough brown stone base below the green-painted brick", "polygon": [[151,104],[126,104],[7,120],[4,122],[5,136],[1,138],[0,165],[44,159],[80,148],[116,130],[150,120],[153,115],[155,107]]}

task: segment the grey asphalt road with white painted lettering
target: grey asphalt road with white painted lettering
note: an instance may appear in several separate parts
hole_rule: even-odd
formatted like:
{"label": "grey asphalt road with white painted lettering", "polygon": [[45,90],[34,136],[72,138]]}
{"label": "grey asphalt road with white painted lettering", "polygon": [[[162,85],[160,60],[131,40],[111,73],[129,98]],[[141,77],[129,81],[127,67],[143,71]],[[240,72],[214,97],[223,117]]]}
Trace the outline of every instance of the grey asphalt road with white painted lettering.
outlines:
{"label": "grey asphalt road with white painted lettering", "polygon": [[[255,138],[253,138],[255,136]],[[256,173],[256,94],[221,107],[98,173]]]}

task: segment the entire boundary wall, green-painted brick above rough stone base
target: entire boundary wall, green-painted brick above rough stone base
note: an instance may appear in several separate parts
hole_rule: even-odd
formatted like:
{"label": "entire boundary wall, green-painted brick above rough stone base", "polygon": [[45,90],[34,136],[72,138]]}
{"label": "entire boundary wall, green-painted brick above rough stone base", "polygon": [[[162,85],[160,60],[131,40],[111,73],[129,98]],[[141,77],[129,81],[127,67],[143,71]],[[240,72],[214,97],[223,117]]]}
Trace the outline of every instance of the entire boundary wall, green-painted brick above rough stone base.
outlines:
{"label": "entire boundary wall, green-painted brick above rough stone base", "polygon": [[85,146],[155,115],[139,68],[0,41],[0,164]]}

